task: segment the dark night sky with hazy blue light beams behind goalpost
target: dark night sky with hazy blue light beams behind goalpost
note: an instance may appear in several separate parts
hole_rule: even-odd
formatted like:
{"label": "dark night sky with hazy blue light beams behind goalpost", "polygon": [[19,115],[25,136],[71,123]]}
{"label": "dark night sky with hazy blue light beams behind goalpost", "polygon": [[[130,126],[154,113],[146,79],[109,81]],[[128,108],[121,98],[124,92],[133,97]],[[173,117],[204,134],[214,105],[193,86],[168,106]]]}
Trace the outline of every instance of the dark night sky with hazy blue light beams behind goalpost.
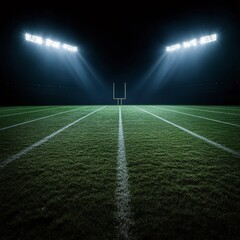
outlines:
{"label": "dark night sky with hazy blue light beams behind goalpost", "polygon": [[[112,104],[112,82],[120,95],[127,82],[127,104],[240,104],[239,1],[9,2],[1,16],[1,105]],[[216,43],[165,52],[212,33]]]}

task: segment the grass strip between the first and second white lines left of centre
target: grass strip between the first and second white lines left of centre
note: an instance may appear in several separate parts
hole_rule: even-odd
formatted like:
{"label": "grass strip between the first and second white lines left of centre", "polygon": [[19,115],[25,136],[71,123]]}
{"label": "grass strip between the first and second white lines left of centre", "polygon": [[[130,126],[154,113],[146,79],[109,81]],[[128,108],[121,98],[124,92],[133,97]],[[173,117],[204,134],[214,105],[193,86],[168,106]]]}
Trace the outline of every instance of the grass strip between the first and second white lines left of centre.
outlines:
{"label": "grass strip between the first and second white lines left of centre", "polygon": [[86,106],[79,111],[0,131],[0,162],[98,108],[99,106]]}

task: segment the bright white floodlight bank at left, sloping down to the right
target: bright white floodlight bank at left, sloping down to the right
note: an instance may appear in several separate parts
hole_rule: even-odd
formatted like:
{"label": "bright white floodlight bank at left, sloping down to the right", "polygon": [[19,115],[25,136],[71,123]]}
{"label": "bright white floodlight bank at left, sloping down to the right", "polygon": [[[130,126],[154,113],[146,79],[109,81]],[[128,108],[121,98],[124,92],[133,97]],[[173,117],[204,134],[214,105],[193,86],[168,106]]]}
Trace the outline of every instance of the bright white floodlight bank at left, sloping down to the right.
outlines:
{"label": "bright white floodlight bank at left, sloping down to the right", "polygon": [[52,39],[49,39],[49,38],[43,39],[42,37],[31,35],[29,33],[25,33],[25,40],[32,42],[32,43],[45,45],[46,47],[67,50],[69,52],[77,52],[78,51],[78,48],[75,46],[71,46],[66,43],[62,44],[58,41],[53,41]]}

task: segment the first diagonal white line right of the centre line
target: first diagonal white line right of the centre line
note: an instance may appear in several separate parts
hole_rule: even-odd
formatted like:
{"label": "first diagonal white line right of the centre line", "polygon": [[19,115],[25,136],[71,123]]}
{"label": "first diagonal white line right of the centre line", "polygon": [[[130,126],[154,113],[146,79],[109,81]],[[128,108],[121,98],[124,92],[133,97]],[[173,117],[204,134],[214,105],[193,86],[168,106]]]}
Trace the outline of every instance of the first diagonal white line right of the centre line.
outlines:
{"label": "first diagonal white line right of the centre line", "polygon": [[207,143],[213,145],[213,146],[216,147],[216,148],[219,148],[219,149],[221,149],[221,150],[223,150],[223,151],[225,151],[225,152],[231,153],[231,154],[234,155],[235,157],[240,158],[240,153],[237,152],[237,151],[235,151],[235,150],[233,150],[233,149],[231,149],[231,148],[225,147],[225,146],[223,146],[222,144],[219,144],[219,143],[217,143],[217,142],[214,142],[214,141],[212,141],[212,140],[210,140],[210,139],[208,139],[208,138],[206,138],[206,137],[203,137],[203,136],[201,136],[201,135],[199,135],[199,134],[197,134],[197,133],[195,133],[195,132],[192,132],[192,131],[184,128],[184,127],[181,127],[181,126],[179,126],[179,125],[177,125],[177,124],[175,124],[175,123],[173,123],[173,122],[170,122],[170,121],[168,121],[168,120],[166,120],[166,119],[164,119],[164,118],[162,118],[162,117],[159,117],[159,116],[157,116],[157,115],[155,115],[155,114],[153,114],[153,113],[151,113],[151,112],[148,112],[148,111],[146,111],[146,110],[144,110],[144,109],[142,109],[142,108],[139,108],[139,107],[136,107],[136,106],[135,106],[135,108],[137,108],[137,109],[139,109],[139,110],[141,110],[141,111],[143,111],[143,112],[145,112],[145,113],[148,113],[148,114],[150,114],[150,115],[152,115],[152,116],[154,116],[154,117],[162,120],[163,122],[166,122],[166,123],[168,123],[168,124],[170,124],[170,125],[178,128],[178,129],[180,129],[180,130],[182,130],[182,131],[184,131],[184,132],[186,132],[186,133],[188,133],[188,134],[196,137],[196,138],[199,138],[199,139],[203,140],[204,142],[207,142]]}

